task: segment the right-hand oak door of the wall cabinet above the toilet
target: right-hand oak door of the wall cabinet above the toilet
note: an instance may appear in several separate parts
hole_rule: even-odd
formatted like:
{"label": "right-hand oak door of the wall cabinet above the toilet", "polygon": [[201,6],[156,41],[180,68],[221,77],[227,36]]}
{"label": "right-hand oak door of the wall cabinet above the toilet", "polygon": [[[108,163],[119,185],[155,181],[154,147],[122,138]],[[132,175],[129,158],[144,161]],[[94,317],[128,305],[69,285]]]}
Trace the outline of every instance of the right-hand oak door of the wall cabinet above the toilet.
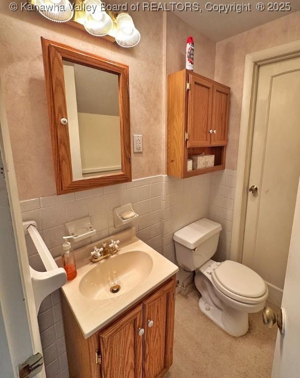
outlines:
{"label": "right-hand oak door of the wall cabinet above the toilet", "polygon": [[230,88],[214,83],[211,146],[227,144]]}

